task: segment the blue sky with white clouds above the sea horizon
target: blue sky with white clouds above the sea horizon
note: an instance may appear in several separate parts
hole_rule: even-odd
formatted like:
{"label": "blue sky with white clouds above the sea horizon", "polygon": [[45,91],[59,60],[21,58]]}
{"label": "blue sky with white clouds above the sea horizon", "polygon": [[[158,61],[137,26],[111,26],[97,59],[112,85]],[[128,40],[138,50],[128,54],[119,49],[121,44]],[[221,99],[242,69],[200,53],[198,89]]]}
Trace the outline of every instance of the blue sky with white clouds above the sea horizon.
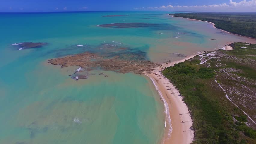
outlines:
{"label": "blue sky with white clouds above the sea horizon", "polygon": [[256,12],[256,0],[0,0],[0,12],[99,10]]}

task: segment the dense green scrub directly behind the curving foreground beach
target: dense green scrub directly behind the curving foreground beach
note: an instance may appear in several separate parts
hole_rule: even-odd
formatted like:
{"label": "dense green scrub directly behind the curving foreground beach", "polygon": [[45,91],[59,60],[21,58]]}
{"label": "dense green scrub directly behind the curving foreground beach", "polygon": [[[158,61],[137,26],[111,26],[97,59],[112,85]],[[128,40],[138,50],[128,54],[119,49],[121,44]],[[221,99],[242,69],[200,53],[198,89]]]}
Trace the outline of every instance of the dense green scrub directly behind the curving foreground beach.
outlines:
{"label": "dense green scrub directly behind the curving foreground beach", "polygon": [[[240,49],[245,43],[233,43],[231,45],[235,49],[227,52],[228,55],[244,55],[248,58],[245,56],[248,51]],[[249,52],[250,55],[256,51],[256,49],[253,49],[254,46],[256,45],[247,45],[253,51]],[[237,72],[237,74],[251,79],[254,79],[256,70],[253,67],[246,66],[246,64],[242,65],[236,63],[236,61],[231,62],[225,58],[223,57],[218,61],[218,63],[225,64],[224,67],[214,66],[215,58],[209,61],[210,67],[203,64],[197,65],[200,63],[200,57],[196,56],[185,62],[167,67],[162,71],[163,75],[170,79],[180,94],[184,96],[183,100],[191,111],[195,130],[194,144],[256,143],[256,131],[245,124],[245,122],[248,122],[247,116],[225,98],[225,93],[219,90],[215,82],[215,71],[220,76],[221,73],[218,71],[220,68],[233,67],[245,70],[245,72]],[[218,83],[227,81],[230,80],[217,79]]]}

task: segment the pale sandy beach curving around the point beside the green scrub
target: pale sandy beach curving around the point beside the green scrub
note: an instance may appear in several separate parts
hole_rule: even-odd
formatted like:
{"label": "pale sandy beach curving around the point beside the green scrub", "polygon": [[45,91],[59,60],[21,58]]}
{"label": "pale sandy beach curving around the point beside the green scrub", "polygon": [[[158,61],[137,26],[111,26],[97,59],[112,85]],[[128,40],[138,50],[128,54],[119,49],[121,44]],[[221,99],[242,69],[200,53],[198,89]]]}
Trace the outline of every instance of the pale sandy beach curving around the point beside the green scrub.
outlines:
{"label": "pale sandy beach curving around the point beside the green scrub", "polygon": [[[196,55],[200,54],[201,53],[198,53]],[[184,62],[196,55],[190,55],[181,60],[163,64],[163,67],[169,67]],[[151,74],[145,74],[145,76],[151,79],[165,106],[166,119],[162,144],[192,143],[194,140],[194,131],[190,129],[192,128],[193,122],[188,107],[184,103],[183,97],[180,96],[179,91],[174,88],[169,79],[162,75],[161,70],[163,69],[156,67]]]}

